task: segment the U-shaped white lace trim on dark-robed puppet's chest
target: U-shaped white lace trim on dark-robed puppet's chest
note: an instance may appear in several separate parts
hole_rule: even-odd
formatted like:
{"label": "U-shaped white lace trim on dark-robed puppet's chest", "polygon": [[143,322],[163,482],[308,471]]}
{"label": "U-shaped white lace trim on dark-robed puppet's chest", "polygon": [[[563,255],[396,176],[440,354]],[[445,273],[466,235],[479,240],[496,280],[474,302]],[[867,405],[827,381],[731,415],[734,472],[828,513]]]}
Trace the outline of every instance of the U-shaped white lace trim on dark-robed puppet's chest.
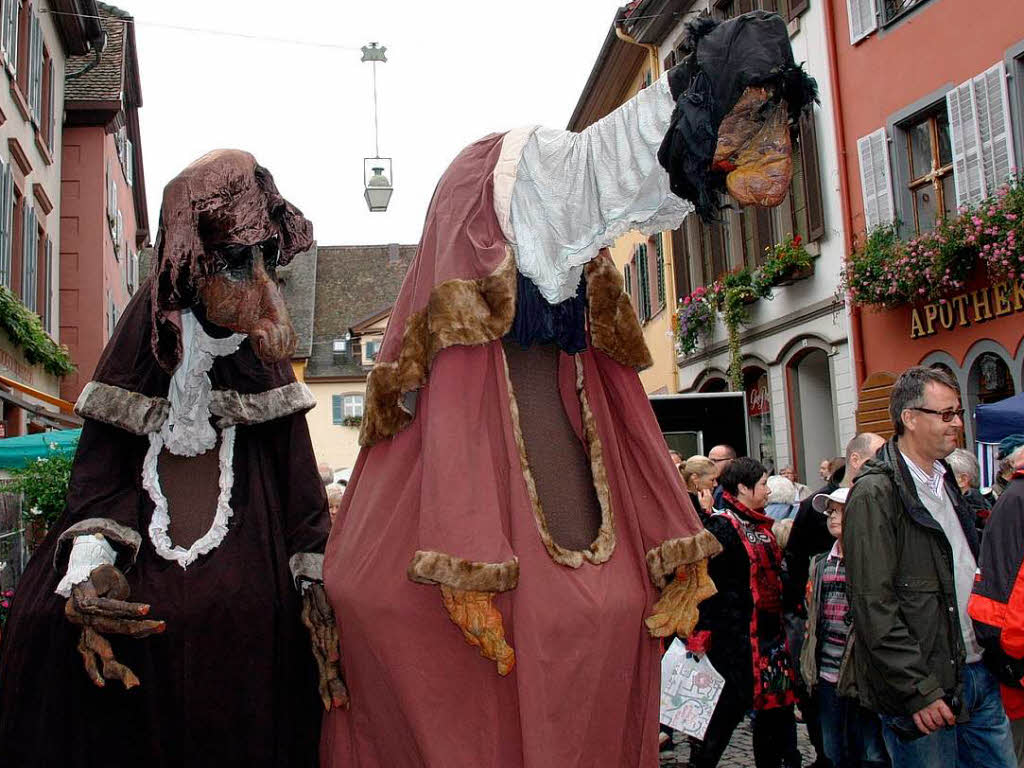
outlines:
{"label": "U-shaped white lace trim on dark-robed puppet's chest", "polygon": [[234,484],[234,427],[225,427],[220,442],[220,494],[217,497],[217,511],[210,529],[184,549],[171,542],[168,528],[171,524],[167,508],[167,497],[160,488],[157,461],[164,447],[163,431],[150,433],[150,450],[142,462],[142,487],[153,499],[153,519],[150,521],[150,541],[157,554],[165,560],[172,560],[182,568],[188,567],[199,557],[212,552],[227,536],[227,521],[231,518],[231,486]]}

